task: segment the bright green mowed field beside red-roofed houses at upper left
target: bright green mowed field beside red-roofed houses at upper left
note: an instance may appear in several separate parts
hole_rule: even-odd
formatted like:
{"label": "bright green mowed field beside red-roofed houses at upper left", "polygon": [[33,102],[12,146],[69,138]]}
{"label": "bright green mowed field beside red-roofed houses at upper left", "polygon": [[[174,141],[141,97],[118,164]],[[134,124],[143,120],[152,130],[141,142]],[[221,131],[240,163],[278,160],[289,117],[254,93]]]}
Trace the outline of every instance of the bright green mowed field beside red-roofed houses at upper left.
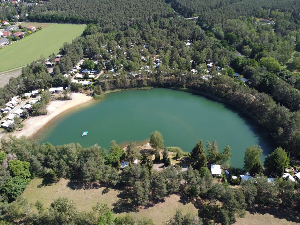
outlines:
{"label": "bright green mowed field beside red-roofed houses at upper left", "polygon": [[57,23],[22,23],[22,27],[33,25],[43,29],[0,50],[0,72],[18,68],[58,53],[64,42],[80,36],[86,25]]}

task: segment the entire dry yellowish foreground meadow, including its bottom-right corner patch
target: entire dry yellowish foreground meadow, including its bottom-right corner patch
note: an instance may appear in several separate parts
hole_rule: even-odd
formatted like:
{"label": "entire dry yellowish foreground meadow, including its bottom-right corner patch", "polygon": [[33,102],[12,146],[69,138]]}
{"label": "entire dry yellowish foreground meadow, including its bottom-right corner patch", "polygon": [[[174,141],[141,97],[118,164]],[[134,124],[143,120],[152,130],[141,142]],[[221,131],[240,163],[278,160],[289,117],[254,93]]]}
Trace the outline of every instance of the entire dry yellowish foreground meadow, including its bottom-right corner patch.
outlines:
{"label": "entire dry yellowish foreground meadow, including its bottom-right corner patch", "polygon": [[[105,187],[85,188],[78,183],[70,182],[68,179],[61,179],[58,183],[49,186],[42,185],[42,179],[35,178],[27,186],[23,192],[23,197],[28,199],[32,205],[37,201],[41,201],[44,207],[49,207],[58,197],[67,197],[71,199],[78,211],[89,212],[92,206],[97,202],[106,203],[113,209],[115,216],[124,215],[129,212],[135,220],[143,217],[150,217],[154,224],[161,225],[162,222],[173,217],[175,210],[179,209],[186,214],[190,212],[197,215],[197,209],[192,203],[183,204],[179,195],[171,195],[164,199],[164,202],[155,204],[153,207],[140,208],[138,211],[131,211],[126,208],[126,204],[122,203],[122,192],[115,189],[105,189]],[[297,222],[287,221],[285,218],[274,217],[271,214],[246,213],[244,218],[237,218],[234,225],[296,225]]]}

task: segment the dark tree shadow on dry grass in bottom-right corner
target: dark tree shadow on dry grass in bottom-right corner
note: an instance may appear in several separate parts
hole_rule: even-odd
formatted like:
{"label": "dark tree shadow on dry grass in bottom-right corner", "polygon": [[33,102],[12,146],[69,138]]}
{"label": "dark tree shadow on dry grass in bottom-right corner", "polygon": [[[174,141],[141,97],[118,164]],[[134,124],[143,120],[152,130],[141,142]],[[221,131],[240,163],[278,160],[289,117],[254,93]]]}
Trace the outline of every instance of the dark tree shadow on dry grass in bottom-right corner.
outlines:
{"label": "dark tree shadow on dry grass in bottom-right corner", "polygon": [[286,219],[287,221],[295,222],[300,224],[300,214],[299,211],[295,209],[283,209],[281,207],[254,207],[247,209],[251,214],[259,213],[259,214],[270,214],[278,219]]}

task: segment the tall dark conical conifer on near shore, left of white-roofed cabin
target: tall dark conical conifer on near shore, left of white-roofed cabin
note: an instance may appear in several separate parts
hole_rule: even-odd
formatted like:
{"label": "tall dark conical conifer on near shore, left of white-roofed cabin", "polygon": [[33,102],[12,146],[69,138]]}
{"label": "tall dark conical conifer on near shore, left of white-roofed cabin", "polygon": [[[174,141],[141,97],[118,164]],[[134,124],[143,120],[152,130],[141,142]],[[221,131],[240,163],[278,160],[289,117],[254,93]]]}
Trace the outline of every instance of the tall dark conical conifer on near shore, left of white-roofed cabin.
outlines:
{"label": "tall dark conical conifer on near shore, left of white-roofed cabin", "polygon": [[207,166],[207,159],[202,140],[200,140],[192,149],[190,158],[194,169],[199,170],[201,167]]}

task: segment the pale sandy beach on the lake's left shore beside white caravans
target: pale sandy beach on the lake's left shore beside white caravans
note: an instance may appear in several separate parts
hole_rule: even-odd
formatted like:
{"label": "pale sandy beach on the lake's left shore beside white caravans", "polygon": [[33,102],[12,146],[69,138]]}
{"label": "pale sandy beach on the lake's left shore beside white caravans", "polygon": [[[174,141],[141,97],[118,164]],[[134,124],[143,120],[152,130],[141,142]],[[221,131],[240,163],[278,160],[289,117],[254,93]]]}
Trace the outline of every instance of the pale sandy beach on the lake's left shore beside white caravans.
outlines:
{"label": "pale sandy beach on the lake's left shore beside white caravans", "polygon": [[55,100],[51,101],[47,106],[47,115],[30,117],[22,122],[24,125],[21,131],[14,131],[13,133],[7,133],[7,135],[14,135],[17,138],[21,136],[31,137],[39,129],[49,123],[53,118],[61,115],[63,112],[74,108],[76,106],[82,105],[93,100],[91,96],[85,95],[83,93],[72,93],[71,100]]}

